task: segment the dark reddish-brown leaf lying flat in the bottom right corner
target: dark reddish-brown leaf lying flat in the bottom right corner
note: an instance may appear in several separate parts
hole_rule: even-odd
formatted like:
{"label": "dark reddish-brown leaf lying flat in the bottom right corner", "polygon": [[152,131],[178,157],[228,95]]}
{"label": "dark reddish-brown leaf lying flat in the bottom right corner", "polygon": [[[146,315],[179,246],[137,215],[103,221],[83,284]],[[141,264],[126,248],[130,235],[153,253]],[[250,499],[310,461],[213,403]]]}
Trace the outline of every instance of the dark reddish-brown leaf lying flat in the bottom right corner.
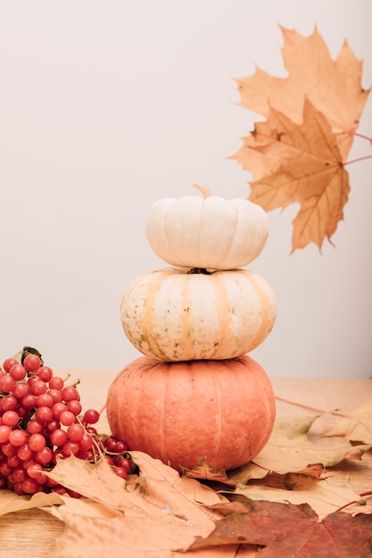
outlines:
{"label": "dark reddish-brown leaf lying flat in the bottom right corner", "polygon": [[372,515],[335,512],[319,521],[310,505],[231,502],[217,505],[226,517],[194,548],[248,543],[262,546],[260,558],[370,558]]}

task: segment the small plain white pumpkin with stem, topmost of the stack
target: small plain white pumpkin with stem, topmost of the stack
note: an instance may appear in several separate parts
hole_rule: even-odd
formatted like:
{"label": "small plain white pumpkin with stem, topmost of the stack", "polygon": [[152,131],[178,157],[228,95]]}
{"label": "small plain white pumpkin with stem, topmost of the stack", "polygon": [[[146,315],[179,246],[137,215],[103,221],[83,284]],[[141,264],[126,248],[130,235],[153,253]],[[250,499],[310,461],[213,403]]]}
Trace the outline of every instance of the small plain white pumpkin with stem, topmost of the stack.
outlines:
{"label": "small plain white pumpkin with stem, topmost of the stack", "polygon": [[269,235],[269,218],[260,205],[243,198],[226,200],[194,183],[200,196],[155,201],[145,233],[155,254],[171,266],[236,269],[259,256]]}

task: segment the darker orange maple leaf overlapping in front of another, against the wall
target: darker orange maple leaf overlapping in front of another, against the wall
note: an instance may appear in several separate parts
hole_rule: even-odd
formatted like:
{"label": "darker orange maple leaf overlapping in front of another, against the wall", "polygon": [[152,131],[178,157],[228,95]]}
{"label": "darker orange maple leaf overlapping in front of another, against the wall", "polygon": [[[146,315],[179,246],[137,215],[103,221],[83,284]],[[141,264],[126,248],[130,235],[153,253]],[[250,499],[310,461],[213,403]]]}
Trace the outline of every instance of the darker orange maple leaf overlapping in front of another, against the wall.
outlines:
{"label": "darker orange maple leaf overlapping in front of another, against the wall", "polygon": [[235,158],[252,172],[251,201],[267,211],[301,204],[293,220],[293,250],[310,242],[320,249],[325,237],[330,241],[343,219],[349,176],[331,126],[308,99],[300,125],[271,108]]}

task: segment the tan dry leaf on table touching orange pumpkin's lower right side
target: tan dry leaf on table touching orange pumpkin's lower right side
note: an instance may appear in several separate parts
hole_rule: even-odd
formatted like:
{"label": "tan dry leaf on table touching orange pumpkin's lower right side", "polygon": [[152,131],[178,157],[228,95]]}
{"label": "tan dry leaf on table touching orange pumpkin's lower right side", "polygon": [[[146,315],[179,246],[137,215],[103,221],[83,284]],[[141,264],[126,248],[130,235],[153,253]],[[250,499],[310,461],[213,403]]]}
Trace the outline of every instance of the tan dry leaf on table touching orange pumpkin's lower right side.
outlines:
{"label": "tan dry leaf on table touching orange pumpkin's lower right side", "polygon": [[266,447],[253,463],[266,471],[279,473],[301,472],[310,464],[325,467],[340,463],[350,457],[360,459],[368,445],[352,446],[346,439],[329,439],[327,444],[314,443],[308,437],[311,424],[317,416],[302,419],[278,419]]}

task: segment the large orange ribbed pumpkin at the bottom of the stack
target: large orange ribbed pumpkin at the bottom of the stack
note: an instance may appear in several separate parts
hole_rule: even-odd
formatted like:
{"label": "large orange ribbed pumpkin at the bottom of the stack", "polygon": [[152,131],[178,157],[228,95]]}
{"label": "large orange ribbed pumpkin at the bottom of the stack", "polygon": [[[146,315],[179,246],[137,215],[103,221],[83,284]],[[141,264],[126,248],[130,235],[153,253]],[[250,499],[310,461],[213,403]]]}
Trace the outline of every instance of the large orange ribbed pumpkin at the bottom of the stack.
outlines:
{"label": "large orange ribbed pumpkin at the bottom of the stack", "polygon": [[269,376],[247,355],[136,358],[112,382],[106,408],[113,436],[178,470],[202,457],[217,469],[248,463],[266,445],[275,420]]}

